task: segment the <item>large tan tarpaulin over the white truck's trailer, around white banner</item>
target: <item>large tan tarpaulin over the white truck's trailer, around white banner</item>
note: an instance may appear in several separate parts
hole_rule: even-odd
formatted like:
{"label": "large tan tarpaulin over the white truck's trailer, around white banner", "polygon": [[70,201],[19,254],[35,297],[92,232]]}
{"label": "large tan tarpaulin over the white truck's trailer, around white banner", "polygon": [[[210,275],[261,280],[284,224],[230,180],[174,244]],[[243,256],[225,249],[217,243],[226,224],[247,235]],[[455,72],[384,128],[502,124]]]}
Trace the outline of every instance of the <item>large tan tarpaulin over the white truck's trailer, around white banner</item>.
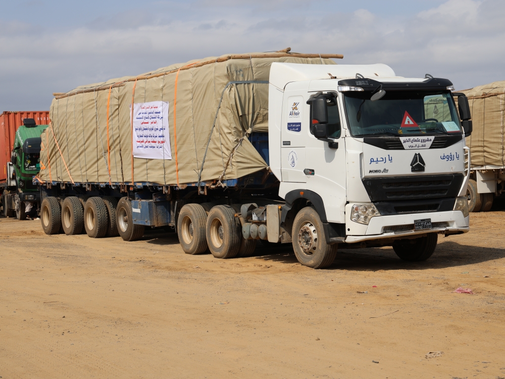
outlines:
{"label": "large tan tarpaulin over the white truck's trailer, around white banner", "polygon": [[[176,64],[148,74],[171,71],[215,58]],[[228,86],[212,135],[211,128],[226,84],[230,81],[268,81],[273,62],[335,64],[331,59],[321,58],[252,58],[230,59],[179,71],[176,133],[180,184],[197,182],[209,137],[211,141],[201,180],[218,179],[225,167],[223,179],[236,179],[267,167],[247,138],[240,144],[239,140],[250,126],[253,131],[268,131],[268,84]],[[109,88],[60,99],[57,96],[51,104],[52,127],[47,128],[41,136],[39,177],[44,181],[177,184],[173,120],[176,76],[177,73],[170,73],[126,81],[124,85],[112,88],[110,99]],[[112,85],[129,78],[81,86],[73,91]],[[130,105],[134,86],[135,103],[169,102],[172,159],[134,158],[132,178]],[[237,145],[236,152],[226,166],[230,153]]]}

